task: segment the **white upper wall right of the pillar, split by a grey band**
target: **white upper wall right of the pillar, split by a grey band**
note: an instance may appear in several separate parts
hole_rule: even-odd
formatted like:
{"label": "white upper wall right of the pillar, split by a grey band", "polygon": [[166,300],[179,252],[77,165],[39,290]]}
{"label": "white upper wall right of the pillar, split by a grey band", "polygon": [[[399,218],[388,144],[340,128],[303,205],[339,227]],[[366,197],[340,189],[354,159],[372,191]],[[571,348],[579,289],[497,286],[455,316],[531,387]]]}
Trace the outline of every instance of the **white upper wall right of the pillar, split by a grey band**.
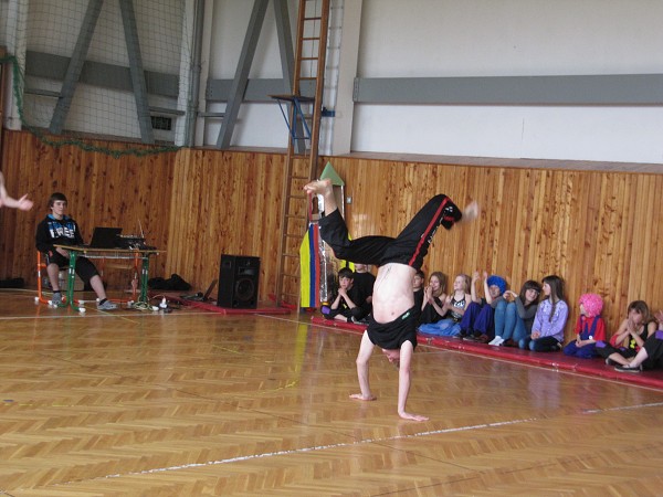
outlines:
{"label": "white upper wall right of the pillar, split by a grey band", "polygon": [[[364,0],[358,75],[663,73],[663,2]],[[355,106],[352,150],[663,162],[661,107]]]}

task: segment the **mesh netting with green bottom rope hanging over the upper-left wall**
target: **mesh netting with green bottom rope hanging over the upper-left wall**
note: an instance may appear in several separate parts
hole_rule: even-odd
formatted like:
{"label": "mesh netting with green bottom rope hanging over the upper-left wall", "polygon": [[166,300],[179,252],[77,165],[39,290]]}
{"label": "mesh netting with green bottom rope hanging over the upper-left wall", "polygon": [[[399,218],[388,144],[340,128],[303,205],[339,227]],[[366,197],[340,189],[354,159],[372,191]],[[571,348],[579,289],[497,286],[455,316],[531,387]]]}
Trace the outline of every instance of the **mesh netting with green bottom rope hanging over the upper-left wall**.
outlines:
{"label": "mesh netting with green bottom rope hanging over the upper-left wall", "polygon": [[[87,15],[95,3],[101,9],[91,23]],[[53,147],[74,145],[112,157],[179,149],[172,145],[176,142],[176,126],[182,126],[186,119],[178,110],[178,106],[182,107],[178,102],[181,98],[179,85],[190,65],[186,0],[129,2],[137,30],[136,44],[148,84],[150,117],[170,126],[169,129],[149,126],[156,144],[149,147],[145,146],[141,136],[140,113],[137,112],[134,91],[130,83],[128,86],[126,83],[130,67],[127,46],[130,30],[127,31],[126,10],[123,10],[122,3],[120,0],[101,0],[101,3],[99,0],[23,0],[17,3],[19,7],[14,15],[8,14],[8,24],[20,25],[7,30],[12,39],[6,44],[10,47],[25,46],[25,50],[1,61],[12,67],[11,91],[22,128],[44,144]],[[88,35],[85,66],[75,83],[62,131],[53,134],[54,109],[61,98],[64,72],[85,34]],[[166,109],[167,113],[160,115],[151,112],[152,108]],[[93,140],[108,141],[109,145],[99,147],[93,145]],[[122,144],[114,147],[114,140]],[[127,144],[140,140],[143,144],[135,147]]]}

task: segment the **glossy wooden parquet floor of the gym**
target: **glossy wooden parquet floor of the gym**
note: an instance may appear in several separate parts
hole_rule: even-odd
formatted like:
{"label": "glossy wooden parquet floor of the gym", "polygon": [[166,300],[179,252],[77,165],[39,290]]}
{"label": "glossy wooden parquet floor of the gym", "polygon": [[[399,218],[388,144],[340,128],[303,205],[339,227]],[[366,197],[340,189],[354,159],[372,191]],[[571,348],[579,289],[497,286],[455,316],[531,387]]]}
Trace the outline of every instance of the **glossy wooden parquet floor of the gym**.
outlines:
{"label": "glossy wooden parquet floor of the gym", "polygon": [[309,316],[0,292],[0,495],[656,496],[663,392],[420,346],[397,370]]}

